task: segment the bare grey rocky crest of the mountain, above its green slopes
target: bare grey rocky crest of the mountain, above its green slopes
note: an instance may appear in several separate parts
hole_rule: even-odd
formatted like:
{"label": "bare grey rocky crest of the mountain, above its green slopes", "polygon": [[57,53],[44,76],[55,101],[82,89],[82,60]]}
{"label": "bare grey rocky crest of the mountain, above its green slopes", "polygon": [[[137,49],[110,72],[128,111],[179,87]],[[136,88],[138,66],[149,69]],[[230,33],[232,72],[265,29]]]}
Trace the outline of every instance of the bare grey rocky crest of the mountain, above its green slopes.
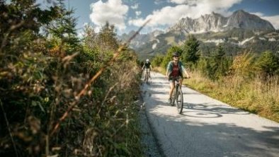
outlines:
{"label": "bare grey rocky crest of the mountain, above its green slopes", "polygon": [[169,30],[181,31],[187,33],[205,33],[220,32],[232,30],[233,28],[243,28],[248,30],[275,30],[273,25],[266,20],[259,18],[254,14],[247,13],[244,10],[234,11],[231,16],[224,17],[219,13],[212,12],[200,16],[200,18],[181,18]]}

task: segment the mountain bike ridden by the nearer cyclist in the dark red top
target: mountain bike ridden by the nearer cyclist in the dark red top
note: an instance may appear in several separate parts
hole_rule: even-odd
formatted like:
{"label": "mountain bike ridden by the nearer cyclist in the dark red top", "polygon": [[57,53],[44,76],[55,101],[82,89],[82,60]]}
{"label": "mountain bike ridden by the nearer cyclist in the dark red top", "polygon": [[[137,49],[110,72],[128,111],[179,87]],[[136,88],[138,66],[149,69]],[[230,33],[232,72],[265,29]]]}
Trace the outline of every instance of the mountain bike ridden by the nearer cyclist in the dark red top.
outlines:
{"label": "mountain bike ridden by the nearer cyclist in the dark red top", "polygon": [[173,94],[171,95],[171,105],[173,106],[176,104],[178,113],[181,114],[183,110],[183,93],[181,86],[179,84],[179,78],[173,78],[174,80],[174,91]]}

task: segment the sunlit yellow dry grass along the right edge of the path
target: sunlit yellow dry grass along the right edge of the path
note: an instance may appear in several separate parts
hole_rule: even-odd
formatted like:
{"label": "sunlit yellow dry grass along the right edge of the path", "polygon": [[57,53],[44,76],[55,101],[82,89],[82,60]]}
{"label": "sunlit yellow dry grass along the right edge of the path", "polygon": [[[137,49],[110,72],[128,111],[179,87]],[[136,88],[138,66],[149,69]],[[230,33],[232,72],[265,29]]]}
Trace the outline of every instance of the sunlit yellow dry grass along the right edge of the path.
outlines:
{"label": "sunlit yellow dry grass along the right edge of the path", "polygon": [[278,77],[244,79],[241,76],[227,76],[222,81],[205,79],[199,72],[193,71],[193,79],[184,81],[191,88],[222,100],[234,107],[256,113],[279,122],[279,81]]}

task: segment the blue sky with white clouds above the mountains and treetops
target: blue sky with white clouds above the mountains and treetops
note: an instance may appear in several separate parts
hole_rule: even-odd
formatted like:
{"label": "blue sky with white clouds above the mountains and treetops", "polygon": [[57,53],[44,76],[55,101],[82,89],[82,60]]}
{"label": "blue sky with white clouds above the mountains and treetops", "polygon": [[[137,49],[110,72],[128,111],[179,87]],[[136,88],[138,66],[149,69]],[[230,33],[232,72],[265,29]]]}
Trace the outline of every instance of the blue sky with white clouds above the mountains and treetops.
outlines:
{"label": "blue sky with white clouds above the mountains and treetops", "polygon": [[[40,6],[50,5],[37,0]],[[222,16],[230,16],[242,9],[271,22],[279,29],[279,0],[64,0],[66,8],[74,9],[76,28],[82,32],[84,25],[92,25],[100,30],[106,21],[115,25],[118,34],[137,30],[149,21],[141,33],[165,30],[180,18],[199,18],[214,11]]]}

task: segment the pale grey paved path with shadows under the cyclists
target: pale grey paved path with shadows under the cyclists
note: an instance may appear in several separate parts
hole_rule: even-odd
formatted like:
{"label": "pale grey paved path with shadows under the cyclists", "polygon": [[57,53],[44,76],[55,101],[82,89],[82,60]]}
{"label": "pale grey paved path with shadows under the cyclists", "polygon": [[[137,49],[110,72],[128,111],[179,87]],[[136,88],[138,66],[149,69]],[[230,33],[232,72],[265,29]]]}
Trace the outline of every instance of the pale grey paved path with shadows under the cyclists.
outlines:
{"label": "pale grey paved path with shadows under the cyclists", "polygon": [[169,83],[151,73],[142,84],[147,118],[165,156],[279,156],[279,124],[183,86],[179,115],[167,103]]}

